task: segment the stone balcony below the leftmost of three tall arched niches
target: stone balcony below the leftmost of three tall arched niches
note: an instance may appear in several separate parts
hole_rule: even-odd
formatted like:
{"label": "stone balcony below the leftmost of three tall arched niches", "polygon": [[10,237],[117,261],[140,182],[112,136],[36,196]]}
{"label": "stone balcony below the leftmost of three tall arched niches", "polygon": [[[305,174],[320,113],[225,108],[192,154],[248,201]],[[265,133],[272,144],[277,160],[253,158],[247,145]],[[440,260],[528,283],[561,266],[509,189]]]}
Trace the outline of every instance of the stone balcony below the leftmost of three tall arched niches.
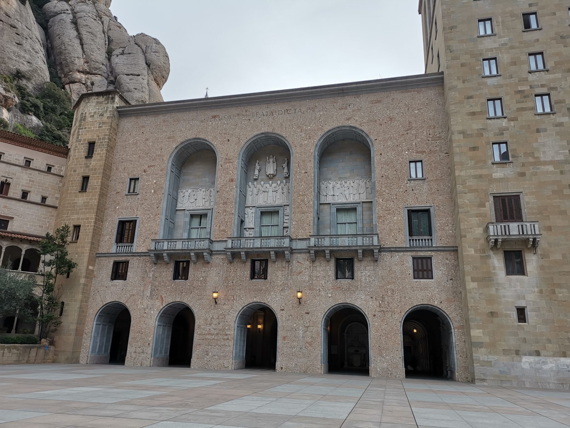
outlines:
{"label": "stone balcony below the leftmost of three tall arched niches", "polygon": [[177,256],[190,256],[190,259],[196,263],[198,255],[202,255],[206,263],[210,263],[212,240],[209,238],[152,239],[150,242],[152,244],[148,252],[154,263],[158,263],[160,256],[164,258],[166,263],[170,263],[170,260]]}

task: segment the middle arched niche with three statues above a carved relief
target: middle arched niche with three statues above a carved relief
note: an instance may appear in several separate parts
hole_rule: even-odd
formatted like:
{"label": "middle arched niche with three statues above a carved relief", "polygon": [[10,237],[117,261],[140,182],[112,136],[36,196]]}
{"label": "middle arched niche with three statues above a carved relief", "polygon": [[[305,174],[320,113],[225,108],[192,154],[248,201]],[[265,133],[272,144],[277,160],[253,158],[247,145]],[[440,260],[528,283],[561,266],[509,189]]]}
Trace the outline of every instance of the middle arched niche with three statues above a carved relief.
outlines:
{"label": "middle arched niche with three statues above a carved relief", "polygon": [[275,132],[255,135],[243,145],[238,156],[235,237],[291,234],[292,158],[291,144]]}

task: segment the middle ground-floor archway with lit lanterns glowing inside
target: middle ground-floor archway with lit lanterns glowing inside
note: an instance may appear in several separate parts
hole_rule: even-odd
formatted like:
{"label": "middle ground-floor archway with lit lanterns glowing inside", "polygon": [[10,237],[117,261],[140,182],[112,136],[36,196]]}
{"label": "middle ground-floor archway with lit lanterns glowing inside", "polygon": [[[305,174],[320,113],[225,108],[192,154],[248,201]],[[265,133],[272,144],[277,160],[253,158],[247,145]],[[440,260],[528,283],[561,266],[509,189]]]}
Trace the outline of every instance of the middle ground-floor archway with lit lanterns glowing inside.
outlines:
{"label": "middle ground-floor archway with lit lanterns glowing inside", "polygon": [[241,311],[235,320],[234,369],[275,370],[279,324],[270,306],[256,302]]}

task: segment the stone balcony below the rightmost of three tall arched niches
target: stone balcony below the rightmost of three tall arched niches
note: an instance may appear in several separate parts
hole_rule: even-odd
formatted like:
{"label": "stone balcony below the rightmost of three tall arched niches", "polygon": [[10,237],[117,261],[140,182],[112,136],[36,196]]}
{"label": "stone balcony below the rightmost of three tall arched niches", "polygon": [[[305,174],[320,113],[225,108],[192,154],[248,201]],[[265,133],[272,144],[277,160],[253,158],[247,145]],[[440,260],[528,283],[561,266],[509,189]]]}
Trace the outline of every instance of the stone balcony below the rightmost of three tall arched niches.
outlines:
{"label": "stone balcony below the rightmost of three tall arched niches", "polygon": [[358,259],[362,260],[365,251],[374,254],[374,260],[380,256],[380,244],[378,244],[378,234],[369,233],[365,235],[311,235],[308,245],[311,253],[311,260],[316,260],[317,252],[324,252],[325,257],[331,260],[331,253],[335,252],[356,252]]}

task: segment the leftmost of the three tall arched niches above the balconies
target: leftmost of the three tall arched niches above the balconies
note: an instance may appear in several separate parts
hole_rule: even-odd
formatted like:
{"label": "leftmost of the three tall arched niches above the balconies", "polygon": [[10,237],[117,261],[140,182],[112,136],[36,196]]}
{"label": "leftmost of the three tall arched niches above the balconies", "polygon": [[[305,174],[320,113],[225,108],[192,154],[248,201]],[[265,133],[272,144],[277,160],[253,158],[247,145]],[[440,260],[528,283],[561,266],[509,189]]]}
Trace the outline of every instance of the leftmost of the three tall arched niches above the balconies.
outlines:
{"label": "leftmost of the three tall arched niches above the balconies", "polygon": [[217,187],[218,152],[202,138],[174,149],[168,160],[160,239],[211,237]]}

